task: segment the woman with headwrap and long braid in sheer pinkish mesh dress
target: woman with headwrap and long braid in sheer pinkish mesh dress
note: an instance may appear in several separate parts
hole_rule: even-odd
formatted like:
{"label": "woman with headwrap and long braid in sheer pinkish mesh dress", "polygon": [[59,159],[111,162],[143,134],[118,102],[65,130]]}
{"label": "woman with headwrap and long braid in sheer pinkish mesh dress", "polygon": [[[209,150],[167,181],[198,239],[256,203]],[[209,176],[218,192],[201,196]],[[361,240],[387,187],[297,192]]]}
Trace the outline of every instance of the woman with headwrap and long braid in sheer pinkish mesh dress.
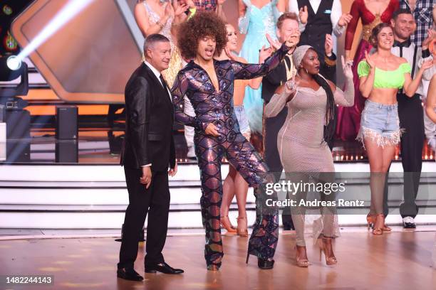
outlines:
{"label": "woman with headwrap and long braid in sheer pinkish mesh dress", "polygon": [[[352,106],[354,86],[351,62],[342,62],[346,76],[346,91],[343,92],[333,82],[319,75],[318,54],[311,46],[296,48],[292,59],[297,75],[276,90],[265,107],[265,114],[266,117],[274,117],[285,106],[288,107],[288,117],[277,136],[277,146],[286,178],[299,182],[301,178],[316,176],[315,173],[326,173],[328,176],[328,173],[335,171],[327,144],[334,134],[334,106]],[[295,196],[303,199],[305,195],[301,192]],[[325,194],[322,196],[327,198]],[[316,232],[316,238],[318,235],[322,237],[320,246],[326,256],[326,264],[336,264],[332,247],[336,231],[335,215],[323,208],[321,214],[322,227],[313,232]],[[296,227],[296,264],[298,267],[308,267],[310,263],[304,241],[305,208],[293,206],[291,215]]]}

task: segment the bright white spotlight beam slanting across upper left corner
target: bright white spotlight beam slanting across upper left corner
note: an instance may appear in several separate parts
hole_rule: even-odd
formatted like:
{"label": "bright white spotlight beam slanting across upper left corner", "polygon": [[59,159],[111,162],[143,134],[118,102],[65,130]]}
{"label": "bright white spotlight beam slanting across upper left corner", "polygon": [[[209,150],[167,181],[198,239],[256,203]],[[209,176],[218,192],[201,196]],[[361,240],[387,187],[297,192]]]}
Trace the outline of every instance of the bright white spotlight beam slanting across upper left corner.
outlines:
{"label": "bright white spotlight beam slanting across upper left corner", "polygon": [[33,53],[36,48],[38,48],[42,43],[44,43],[48,38],[50,38],[53,33],[56,33],[62,28],[68,21],[79,14],[83,9],[85,9],[94,0],[70,0],[63,6],[63,8],[54,16],[50,22],[44,26],[44,28],[33,38],[33,40],[28,43],[28,45],[21,50],[21,53],[17,56],[17,61],[22,61],[28,55]]}

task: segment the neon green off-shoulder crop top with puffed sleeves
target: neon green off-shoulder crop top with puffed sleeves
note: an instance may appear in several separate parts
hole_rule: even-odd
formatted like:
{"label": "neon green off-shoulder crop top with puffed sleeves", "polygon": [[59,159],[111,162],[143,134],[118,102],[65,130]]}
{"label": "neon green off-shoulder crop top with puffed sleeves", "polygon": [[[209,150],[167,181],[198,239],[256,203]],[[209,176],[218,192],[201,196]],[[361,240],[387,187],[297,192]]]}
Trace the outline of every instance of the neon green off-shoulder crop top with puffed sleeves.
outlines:
{"label": "neon green off-shoulder crop top with puffed sleeves", "polygon": [[[402,63],[396,70],[380,70],[380,68],[375,67],[374,87],[400,89],[404,85],[404,74],[411,71],[412,68],[410,68],[409,63]],[[369,72],[370,66],[368,63],[365,60],[360,61],[358,65],[359,77],[366,77]]]}

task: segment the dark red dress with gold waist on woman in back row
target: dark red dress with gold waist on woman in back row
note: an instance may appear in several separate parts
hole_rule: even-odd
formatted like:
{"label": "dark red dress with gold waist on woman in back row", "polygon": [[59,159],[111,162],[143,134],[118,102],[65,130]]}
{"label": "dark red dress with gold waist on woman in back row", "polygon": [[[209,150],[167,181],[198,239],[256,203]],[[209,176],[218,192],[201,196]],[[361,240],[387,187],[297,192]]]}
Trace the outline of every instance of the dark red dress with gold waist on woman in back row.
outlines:
{"label": "dark red dress with gold waist on woman in back row", "polygon": [[373,47],[369,43],[369,38],[373,28],[379,23],[389,23],[393,16],[393,12],[400,7],[398,0],[390,0],[388,7],[383,14],[372,14],[366,6],[364,0],[355,0],[351,5],[350,14],[353,16],[350,23],[348,23],[346,32],[345,49],[351,50],[355,28],[358,25],[359,18],[362,19],[362,39],[355,52],[353,60],[353,79],[354,79],[354,105],[353,107],[339,107],[338,108],[338,124],[336,127],[336,137],[341,140],[354,140],[360,128],[360,114],[365,106],[365,98],[360,94],[359,90],[359,77],[357,67],[360,60],[365,58],[365,51]]}

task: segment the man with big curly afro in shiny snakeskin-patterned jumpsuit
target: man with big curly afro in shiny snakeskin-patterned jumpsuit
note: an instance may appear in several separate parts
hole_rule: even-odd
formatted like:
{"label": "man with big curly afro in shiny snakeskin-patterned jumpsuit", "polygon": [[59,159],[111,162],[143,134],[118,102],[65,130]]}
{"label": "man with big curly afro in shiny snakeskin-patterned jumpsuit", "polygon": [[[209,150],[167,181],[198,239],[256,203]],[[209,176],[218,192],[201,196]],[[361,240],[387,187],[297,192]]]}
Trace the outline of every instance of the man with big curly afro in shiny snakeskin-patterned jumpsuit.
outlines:
{"label": "man with big curly afro in shiny snakeskin-patterned jumpsuit", "polygon": [[[217,271],[224,256],[219,215],[223,156],[254,187],[256,195],[258,215],[249,240],[247,262],[249,254],[253,254],[258,257],[259,268],[271,269],[279,237],[278,215],[276,208],[267,208],[265,200],[262,202],[261,199],[266,196],[265,183],[274,181],[274,178],[259,153],[239,130],[233,107],[234,80],[266,75],[296,45],[296,37],[290,36],[264,63],[245,64],[235,60],[214,60],[227,43],[225,23],[216,14],[197,12],[181,24],[180,31],[177,45],[182,57],[190,62],[178,73],[172,97],[176,121],[195,130],[195,154],[202,181],[200,205],[206,230],[204,257],[207,269]],[[185,95],[194,107],[194,117],[184,112]]]}

